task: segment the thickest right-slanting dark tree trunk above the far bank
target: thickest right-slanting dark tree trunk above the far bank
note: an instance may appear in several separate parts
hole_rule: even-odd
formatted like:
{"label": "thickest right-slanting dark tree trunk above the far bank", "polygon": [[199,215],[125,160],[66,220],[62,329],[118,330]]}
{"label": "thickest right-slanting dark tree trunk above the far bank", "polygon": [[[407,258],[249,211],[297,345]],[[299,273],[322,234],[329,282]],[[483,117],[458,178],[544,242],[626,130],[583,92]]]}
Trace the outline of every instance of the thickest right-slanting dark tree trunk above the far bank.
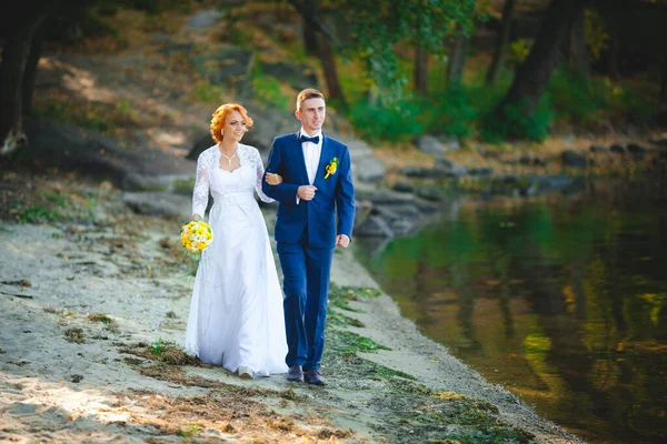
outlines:
{"label": "thickest right-slanting dark tree trunk above the far bank", "polygon": [[525,115],[532,114],[537,109],[560,60],[560,48],[567,31],[584,7],[581,0],[551,1],[528,58],[518,68],[511,87],[496,109],[498,117],[505,117],[507,105],[520,107]]}

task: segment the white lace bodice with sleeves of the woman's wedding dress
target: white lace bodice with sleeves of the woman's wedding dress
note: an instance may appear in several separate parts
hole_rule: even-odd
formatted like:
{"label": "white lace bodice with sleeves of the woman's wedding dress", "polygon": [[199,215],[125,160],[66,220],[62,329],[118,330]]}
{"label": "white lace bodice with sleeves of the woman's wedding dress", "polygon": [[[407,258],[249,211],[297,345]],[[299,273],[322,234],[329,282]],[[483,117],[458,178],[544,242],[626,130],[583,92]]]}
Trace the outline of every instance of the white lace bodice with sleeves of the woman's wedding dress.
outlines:
{"label": "white lace bodice with sleeves of the woman's wedding dress", "polygon": [[[263,202],[273,202],[271,198],[261,191],[261,181],[263,180],[265,168],[257,148],[239,143],[237,155],[239,157],[240,161],[239,170],[249,169],[253,181],[246,182],[239,179],[238,181],[235,181],[233,184],[229,184],[229,181],[226,181],[223,190],[211,190],[213,188],[213,171],[220,169],[220,149],[216,144],[199,154],[197,158],[197,176],[195,179],[195,189],[192,190],[192,214],[199,214],[203,218],[203,213],[208,205],[210,191],[213,191],[212,194],[215,199],[219,199],[219,196],[226,194],[252,195],[252,192],[255,191],[257,192],[259,199],[261,199]],[[227,174],[240,173],[240,171],[237,170],[233,172],[228,172],[225,170],[221,171]]]}

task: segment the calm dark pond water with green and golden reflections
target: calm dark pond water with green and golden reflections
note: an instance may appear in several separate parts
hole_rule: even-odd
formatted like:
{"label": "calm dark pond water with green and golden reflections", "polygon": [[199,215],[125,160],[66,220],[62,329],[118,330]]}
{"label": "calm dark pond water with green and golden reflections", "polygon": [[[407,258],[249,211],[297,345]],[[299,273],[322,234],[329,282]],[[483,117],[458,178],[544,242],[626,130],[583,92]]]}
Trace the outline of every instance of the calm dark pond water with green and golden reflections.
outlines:
{"label": "calm dark pond water with green and golden reflections", "polygon": [[667,193],[466,202],[357,254],[405,316],[590,443],[667,441]]}

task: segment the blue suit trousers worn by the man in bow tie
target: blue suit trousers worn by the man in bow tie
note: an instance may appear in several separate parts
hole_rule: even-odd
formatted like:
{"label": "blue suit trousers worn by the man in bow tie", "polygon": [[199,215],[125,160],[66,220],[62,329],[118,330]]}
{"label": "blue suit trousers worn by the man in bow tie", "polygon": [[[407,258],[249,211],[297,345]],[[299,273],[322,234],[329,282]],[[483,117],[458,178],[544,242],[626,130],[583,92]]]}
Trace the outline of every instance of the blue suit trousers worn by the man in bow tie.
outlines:
{"label": "blue suit trousers worn by the man in bow tie", "polygon": [[334,249],[308,245],[307,231],[299,242],[278,242],[285,292],[287,365],[319,369],[325,351],[325,324]]}

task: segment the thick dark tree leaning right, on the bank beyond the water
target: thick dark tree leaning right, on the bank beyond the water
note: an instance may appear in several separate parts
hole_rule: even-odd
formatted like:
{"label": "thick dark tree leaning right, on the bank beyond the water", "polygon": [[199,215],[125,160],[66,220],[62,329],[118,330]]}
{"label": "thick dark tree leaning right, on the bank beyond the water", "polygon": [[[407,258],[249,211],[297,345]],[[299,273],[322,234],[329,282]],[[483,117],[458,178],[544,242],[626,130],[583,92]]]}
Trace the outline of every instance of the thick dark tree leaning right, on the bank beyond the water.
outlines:
{"label": "thick dark tree leaning right, on the bank beyond the water", "polygon": [[505,137],[522,138],[522,125],[530,122],[551,74],[561,58],[561,47],[575,19],[584,10],[583,0],[552,0],[526,61],[517,69],[505,98],[487,118],[485,125],[504,129]]}

